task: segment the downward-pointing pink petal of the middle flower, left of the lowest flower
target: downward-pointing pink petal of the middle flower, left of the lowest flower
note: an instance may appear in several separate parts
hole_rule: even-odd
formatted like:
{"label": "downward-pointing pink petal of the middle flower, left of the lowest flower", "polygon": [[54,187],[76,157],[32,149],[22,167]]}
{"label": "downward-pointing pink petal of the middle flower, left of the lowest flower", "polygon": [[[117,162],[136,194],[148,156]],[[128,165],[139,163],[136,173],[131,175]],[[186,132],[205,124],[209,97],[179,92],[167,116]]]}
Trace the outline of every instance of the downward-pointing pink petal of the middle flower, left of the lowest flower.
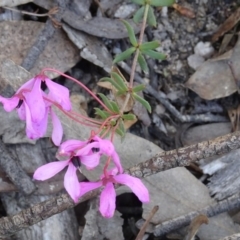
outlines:
{"label": "downward-pointing pink petal of the middle flower, left of the lowest flower", "polygon": [[64,187],[75,203],[78,202],[80,197],[80,188],[76,171],[77,168],[70,162],[64,176]]}

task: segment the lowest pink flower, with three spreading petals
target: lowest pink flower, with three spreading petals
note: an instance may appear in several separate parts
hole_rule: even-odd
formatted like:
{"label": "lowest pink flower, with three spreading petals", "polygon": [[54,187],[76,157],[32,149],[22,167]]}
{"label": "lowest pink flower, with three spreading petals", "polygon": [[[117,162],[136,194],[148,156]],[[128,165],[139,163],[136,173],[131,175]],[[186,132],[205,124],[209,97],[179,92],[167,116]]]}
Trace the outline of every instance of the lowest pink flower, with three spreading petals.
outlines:
{"label": "lowest pink flower, with three spreading petals", "polygon": [[100,212],[106,218],[111,218],[114,215],[116,208],[116,192],[114,184],[120,183],[131,188],[133,193],[143,203],[149,202],[149,193],[140,179],[132,177],[128,174],[118,174],[117,170],[113,169],[105,173],[99,182],[81,182],[80,197],[93,189],[105,186],[100,196]]}

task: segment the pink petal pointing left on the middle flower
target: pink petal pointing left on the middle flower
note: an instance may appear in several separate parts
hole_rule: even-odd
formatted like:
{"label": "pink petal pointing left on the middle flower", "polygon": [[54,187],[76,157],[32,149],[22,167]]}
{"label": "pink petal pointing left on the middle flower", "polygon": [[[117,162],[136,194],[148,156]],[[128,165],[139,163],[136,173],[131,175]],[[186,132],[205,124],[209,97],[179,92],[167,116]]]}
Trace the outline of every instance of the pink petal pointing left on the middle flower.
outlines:
{"label": "pink petal pointing left on the middle flower", "polygon": [[69,160],[47,163],[35,171],[33,178],[41,181],[47,180],[63,170],[68,163]]}

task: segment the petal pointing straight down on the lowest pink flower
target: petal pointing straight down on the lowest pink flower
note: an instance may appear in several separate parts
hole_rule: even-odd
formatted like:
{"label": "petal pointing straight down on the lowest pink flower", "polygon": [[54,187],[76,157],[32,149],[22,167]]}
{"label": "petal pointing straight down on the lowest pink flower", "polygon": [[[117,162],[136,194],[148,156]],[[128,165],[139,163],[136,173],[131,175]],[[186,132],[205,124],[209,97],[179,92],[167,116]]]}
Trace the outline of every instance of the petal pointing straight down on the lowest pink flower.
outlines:
{"label": "petal pointing straight down on the lowest pink flower", "polygon": [[114,215],[116,208],[116,192],[111,182],[107,183],[100,196],[99,211],[106,218]]}

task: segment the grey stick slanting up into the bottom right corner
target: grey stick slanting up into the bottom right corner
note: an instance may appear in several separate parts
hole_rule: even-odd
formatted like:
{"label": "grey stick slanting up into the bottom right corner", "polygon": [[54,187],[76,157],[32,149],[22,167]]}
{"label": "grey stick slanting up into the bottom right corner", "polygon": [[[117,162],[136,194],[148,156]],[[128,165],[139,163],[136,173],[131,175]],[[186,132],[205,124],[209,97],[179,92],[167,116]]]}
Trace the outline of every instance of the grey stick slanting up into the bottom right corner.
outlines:
{"label": "grey stick slanting up into the bottom right corner", "polygon": [[203,208],[200,211],[190,212],[187,215],[163,222],[156,226],[154,236],[162,236],[176,229],[185,227],[199,214],[213,217],[217,214],[227,212],[240,207],[240,193],[233,195],[219,203]]}

